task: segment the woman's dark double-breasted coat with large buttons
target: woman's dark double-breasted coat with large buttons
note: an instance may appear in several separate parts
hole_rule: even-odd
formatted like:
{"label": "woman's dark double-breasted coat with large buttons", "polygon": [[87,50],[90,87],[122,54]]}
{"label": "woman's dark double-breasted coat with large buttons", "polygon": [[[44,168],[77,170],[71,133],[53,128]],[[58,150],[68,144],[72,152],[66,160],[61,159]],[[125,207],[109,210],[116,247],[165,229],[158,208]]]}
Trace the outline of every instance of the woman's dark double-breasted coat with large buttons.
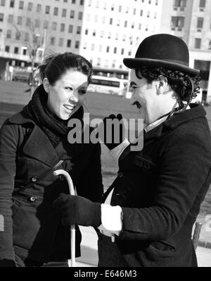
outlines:
{"label": "woman's dark double-breasted coat with large buttons", "polygon": [[[71,144],[65,136],[53,148],[37,124],[19,112],[0,130],[0,260],[14,253],[34,261],[70,258],[70,228],[60,223],[52,202],[60,192],[69,193],[63,176],[51,169],[70,172],[77,194],[98,201],[103,194],[101,146]],[[81,235],[77,228],[76,256]]]}

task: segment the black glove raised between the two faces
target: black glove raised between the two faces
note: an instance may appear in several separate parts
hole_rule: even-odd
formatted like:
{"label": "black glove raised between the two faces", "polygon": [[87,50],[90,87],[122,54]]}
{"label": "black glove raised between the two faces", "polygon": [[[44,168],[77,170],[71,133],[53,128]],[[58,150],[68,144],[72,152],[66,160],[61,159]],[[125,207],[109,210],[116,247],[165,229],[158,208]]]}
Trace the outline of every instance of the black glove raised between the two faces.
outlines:
{"label": "black glove raised between the two faces", "polygon": [[[112,126],[110,126],[110,122],[107,122],[107,120],[109,120],[109,119],[112,122],[115,121],[115,119],[117,120],[118,124],[120,124],[120,126],[117,127],[118,131],[115,131],[114,124],[112,124]],[[122,120],[122,122],[120,122],[121,120],[122,120],[121,114],[117,114],[117,116],[109,115],[109,117],[106,117],[103,119],[103,126],[104,126],[104,140],[103,141],[109,150],[113,150],[113,148],[117,147],[117,145],[120,145],[120,143],[122,143],[122,141],[124,141],[124,139],[123,139],[124,138],[124,124],[123,124],[123,120]],[[108,137],[108,134],[109,134],[109,137]],[[115,134],[116,134],[117,138],[115,138]],[[119,136],[119,138],[118,138],[118,136]]]}

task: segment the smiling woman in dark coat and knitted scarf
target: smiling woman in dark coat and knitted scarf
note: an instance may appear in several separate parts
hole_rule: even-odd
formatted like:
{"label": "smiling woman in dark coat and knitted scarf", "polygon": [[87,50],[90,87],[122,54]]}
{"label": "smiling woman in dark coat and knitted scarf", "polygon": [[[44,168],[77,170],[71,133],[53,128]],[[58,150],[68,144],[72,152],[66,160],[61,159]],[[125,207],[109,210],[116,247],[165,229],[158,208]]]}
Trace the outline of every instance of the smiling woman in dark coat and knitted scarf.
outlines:
{"label": "smiling woman in dark coat and knitted scarf", "polygon": [[[1,266],[41,266],[70,259],[70,229],[52,202],[68,193],[70,172],[77,193],[97,202],[103,192],[99,144],[68,143],[68,121],[83,119],[91,64],[73,53],[53,55],[39,67],[42,84],[21,112],[0,131]],[[76,230],[76,256],[81,235]]]}

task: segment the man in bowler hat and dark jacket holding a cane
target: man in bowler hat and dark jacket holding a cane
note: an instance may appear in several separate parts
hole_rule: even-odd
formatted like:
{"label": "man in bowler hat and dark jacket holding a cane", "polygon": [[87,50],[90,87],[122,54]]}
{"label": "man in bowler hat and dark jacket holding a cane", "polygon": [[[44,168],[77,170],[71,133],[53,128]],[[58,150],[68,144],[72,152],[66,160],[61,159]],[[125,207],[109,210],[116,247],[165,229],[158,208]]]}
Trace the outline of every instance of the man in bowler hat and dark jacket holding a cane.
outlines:
{"label": "man in bowler hat and dark jacket holding a cane", "polygon": [[119,171],[101,204],[63,194],[54,206],[64,225],[96,228],[98,266],[195,267],[191,232],[211,181],[206,113],[191,103],[199,71],[188,66],[184,41],[170,34],[144,39],[123,61],[145,124],[143,149],[108,145]]}

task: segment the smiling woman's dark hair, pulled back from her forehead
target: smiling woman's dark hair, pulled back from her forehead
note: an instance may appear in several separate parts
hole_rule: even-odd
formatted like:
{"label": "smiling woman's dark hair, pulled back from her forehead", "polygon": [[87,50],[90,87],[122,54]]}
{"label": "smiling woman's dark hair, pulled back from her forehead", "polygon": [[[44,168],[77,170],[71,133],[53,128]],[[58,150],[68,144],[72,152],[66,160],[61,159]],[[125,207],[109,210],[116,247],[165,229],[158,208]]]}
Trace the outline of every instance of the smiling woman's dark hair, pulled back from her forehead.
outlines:
{"label": "smiling woman's dark hair, pulled back from her forehead", "polygon": [[44,78],[49,79],[53,86],[60,77],[68,70],[77,70],[87,75],[88,84],[91,81],[92,65],[82,55],[65,52],[49,55],[42,65],[39,65],[39,74],[41,81]]}

